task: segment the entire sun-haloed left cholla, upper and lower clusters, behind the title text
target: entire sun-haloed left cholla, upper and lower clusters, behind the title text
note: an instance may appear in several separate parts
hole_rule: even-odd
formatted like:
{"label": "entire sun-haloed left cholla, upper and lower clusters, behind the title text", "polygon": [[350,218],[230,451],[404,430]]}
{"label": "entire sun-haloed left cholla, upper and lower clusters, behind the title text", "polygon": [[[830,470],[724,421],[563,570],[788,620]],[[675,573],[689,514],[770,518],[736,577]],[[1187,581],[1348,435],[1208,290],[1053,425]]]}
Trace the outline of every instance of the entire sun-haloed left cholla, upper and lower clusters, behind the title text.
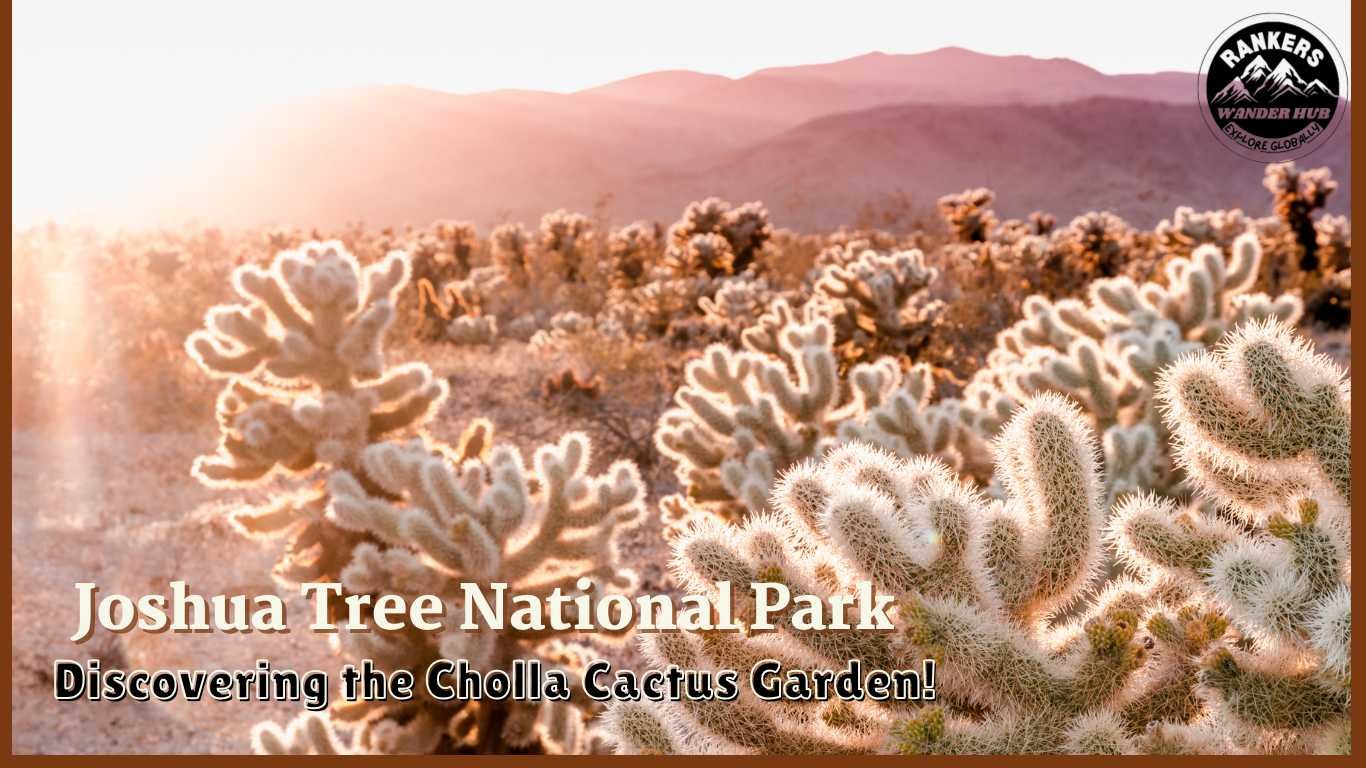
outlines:
{"label": "entire sun-haloed left cholla, upper and lower clusters, behind the title text", "polygon": [[[481,670],[520,657],[574,667],[581,655],[567,637],[456,630],[459,582],[574,592],[582,575],[594,589],[627,589],[632,577],[616,537],[641,515],[638,471],[617,462],[590,474],[589,443],[576,433],[537,451],[529,470],[518,451],[490,448],[484,421],[456,447],[422,436],[384,443],[421,435],[447,394],[421,364],[385,366],[380,342],[407,276],[402,253],[362,269],[335,242],[281,253],[269,272],[239,268],[234,280],[247,303],[214,307],[208,329],[186,343],[202,368],[228,380],[219,451],[194,473],[209,485],[313,473],[311,489],[235,515],[250,533],[291,536],[276,568],[281,579],[339,581],[346,594],[445,597],[447,631],[342,635],[355,657],[418,674],[441,657]],[[355,731],[350,743],[318,715],[283,730],[262,724],[254,743],[318,753],[579,752],[589,743],[583,713],[563,702],[419,697],[340,705],[331,716]]]}

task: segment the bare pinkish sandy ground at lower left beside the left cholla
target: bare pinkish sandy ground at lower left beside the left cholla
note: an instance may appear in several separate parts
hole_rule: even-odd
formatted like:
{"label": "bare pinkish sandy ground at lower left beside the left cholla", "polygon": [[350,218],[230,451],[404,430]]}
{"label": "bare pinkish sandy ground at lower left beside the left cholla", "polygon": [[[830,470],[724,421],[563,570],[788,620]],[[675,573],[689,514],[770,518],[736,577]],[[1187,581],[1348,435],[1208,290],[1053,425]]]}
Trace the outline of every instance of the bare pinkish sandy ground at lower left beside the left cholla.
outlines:
{"label": "bare pinkish sandy ground at lower left beside the left cholla", "polygon": [[[55,659],[101,659],[119,668],[329,668],[326,646],[303,634],[96,634],[76,627],[75,582],[102,592],[165,592],[184,579],[197,592],[277,592],[269,571],[277,543],[243,538],[227,525],[231,502],[189,477],[212,435],[94,433],[79,439],[14,433],[11,568],[12,745],[16,753],[240,752],[262,717],[294,704],[135,701],[57,702]],[[205,443],[208,440],[208,443]],[[305,605],[285,590],[291,612]],[[302,614],[299,614],[302,615]]]}

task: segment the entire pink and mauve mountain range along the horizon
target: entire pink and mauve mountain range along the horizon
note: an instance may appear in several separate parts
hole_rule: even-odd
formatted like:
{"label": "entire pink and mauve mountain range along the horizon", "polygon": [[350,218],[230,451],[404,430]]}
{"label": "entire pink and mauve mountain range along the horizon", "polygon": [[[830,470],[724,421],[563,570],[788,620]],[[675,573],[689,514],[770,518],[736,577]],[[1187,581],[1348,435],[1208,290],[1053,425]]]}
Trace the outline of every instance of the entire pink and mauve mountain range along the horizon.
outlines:
{"label": "entire pink and mauve mountain range along the horizon", "polygon": [[[668,223],[716,194],[816,230],[907,201],[930,216],[937,197],[977,186],[1007,216],[1108,208],[1152,225],[1176,205],[1264,212],[1262,167],[1216,146],[1197,87],[1188,72],[962,48],[743,78],[660,71],[567,94],[363,87],[254,115],[120,220],[486,230],[570,208]],[[1339,206],[1348,135],[1306,160],[1333,168]]]}

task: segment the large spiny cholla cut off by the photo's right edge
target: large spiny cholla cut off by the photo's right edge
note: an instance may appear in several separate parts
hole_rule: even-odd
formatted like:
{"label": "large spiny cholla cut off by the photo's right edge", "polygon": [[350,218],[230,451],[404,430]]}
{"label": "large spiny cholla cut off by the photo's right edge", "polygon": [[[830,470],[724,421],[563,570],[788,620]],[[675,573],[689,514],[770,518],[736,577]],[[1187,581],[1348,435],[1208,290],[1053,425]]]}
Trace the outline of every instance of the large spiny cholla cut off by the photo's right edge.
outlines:
{"label": "large spiny cholla cut off by the photo's right edge", "polygon": [[[1284,325],[1258,323],[1172,366],[1160,398],[1208,504],[1180,510],[1130,497],[1111,538],[1134,570],[1182,582],[1232,622],[1235,637],[1199,655],[1210,727],[1250,750],[1350,750],[1351,398],[1343,372]],[[1175,633],[1160,625],[1154,634]]]}

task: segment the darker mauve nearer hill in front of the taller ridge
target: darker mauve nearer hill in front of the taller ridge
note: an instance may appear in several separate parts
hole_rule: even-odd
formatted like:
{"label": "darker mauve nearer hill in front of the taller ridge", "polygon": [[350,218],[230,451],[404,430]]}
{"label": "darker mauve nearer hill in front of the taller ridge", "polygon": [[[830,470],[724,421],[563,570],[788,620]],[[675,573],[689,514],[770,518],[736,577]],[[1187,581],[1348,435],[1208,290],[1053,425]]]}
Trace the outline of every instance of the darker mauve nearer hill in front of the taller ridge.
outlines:
{"label": "darker mauve nearer hill in front of the taller ridge", "polygon": [[[1348,116],[1324,149],[1302,161],[1333,169],[1335,210],[1350,209],[1350,135]],[[1119,98],[897,105],[811,120],[710,168],[649,179],[639,194],[664,210],[669,198],[703,190],[758,198],[776,221],[831,228],[889,191],[929,210],[944,193],[985,186],[1004,216],[1046,210],[1065,221],[1108,209],[1152,225],[1177,205],[1264,215],[1270,197],[1262,171],[1214,143],[1194,107]]]}

